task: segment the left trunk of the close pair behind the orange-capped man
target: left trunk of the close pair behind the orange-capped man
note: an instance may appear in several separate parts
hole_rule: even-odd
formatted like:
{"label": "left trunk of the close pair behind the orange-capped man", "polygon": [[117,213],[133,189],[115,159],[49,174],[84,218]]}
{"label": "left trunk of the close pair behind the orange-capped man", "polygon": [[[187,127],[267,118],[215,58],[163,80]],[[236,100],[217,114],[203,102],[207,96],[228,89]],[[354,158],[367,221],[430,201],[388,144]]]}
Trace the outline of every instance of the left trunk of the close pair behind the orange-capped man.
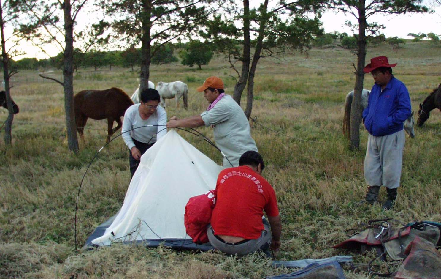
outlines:
{"label": "left trunk of the close pair behind the orange-capped man", "polygon": [[240,106],[240,98],[242,92],[247,85],[248,72],[250,71],[250,2],[243,0],[243,56],[242,56],[242,73],[239,80],[234,86],[233,99]]}

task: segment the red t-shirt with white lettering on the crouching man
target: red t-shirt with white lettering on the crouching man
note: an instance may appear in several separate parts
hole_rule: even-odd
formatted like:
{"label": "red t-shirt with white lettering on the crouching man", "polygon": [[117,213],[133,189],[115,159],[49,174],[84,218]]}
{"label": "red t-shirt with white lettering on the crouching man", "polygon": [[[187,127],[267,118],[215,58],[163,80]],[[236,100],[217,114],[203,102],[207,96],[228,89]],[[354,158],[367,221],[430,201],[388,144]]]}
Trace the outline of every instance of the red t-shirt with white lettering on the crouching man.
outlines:
{"label": "red t-shirt with white lettering on the crouching man", "polygon": [[222,170],[216,190],[216,205],[211,216],[216,235],[257,239],[263,230],[263,210],[268,216],[279,215],[273,187],[250,167]]}

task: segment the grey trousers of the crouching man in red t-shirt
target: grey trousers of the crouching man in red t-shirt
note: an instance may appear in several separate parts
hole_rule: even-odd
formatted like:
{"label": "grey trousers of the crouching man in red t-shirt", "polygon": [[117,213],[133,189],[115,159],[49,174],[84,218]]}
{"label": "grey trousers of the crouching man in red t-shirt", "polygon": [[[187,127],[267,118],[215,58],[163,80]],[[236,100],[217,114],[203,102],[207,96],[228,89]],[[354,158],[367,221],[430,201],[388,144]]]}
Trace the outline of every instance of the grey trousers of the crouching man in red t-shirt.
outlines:
{"label": "grey trousers of the crouching man in red t-shirt", "polygon": [[216,237],[213,233],[213,227],[211,224],[207,228],[208,240],[210,244],[217,250],[221,250],[225,254],[237,256],[244,256],[257,251],[258,249],[268,249],[271,245],[273,236],[268,223],[263,224],[264,229],[262,235],[258,239],[250,239],[246,241],[240,241],[236,244],[223,241],[221,238]]}

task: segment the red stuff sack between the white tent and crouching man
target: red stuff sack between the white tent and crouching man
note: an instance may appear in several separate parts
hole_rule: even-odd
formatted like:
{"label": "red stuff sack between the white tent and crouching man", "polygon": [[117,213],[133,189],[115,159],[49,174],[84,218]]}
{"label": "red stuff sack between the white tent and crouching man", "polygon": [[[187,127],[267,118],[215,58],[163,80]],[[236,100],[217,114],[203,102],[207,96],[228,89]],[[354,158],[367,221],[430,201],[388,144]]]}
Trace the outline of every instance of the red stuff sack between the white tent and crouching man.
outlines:
{"label": "red stuff sack between the white tent and crouching man", "polygon": [[211,221],[214,204],[216,204],[216,190],[209,190],[205,194],[191,197],[185,206],[185,231],[194,243],[208,242],[207,226]]}

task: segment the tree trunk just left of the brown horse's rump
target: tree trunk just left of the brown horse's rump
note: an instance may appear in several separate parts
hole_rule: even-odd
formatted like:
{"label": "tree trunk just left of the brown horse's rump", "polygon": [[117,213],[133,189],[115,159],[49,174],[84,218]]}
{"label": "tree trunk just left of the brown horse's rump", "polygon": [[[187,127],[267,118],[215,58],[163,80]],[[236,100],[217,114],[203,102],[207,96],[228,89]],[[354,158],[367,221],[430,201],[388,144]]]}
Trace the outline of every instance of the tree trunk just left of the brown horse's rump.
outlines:
{"label": "tree trunk just left of the brown horse's rump", "polygon": [[64,32],[66,47],[64,48],[64,68],[63,68],[63,87],[64,87],[64,109],[66,110],[67,145],[69,150],[78,151],[78,138],[75,124],[74,111],[74,25],[71,15],[71,1],[64,0]]}

